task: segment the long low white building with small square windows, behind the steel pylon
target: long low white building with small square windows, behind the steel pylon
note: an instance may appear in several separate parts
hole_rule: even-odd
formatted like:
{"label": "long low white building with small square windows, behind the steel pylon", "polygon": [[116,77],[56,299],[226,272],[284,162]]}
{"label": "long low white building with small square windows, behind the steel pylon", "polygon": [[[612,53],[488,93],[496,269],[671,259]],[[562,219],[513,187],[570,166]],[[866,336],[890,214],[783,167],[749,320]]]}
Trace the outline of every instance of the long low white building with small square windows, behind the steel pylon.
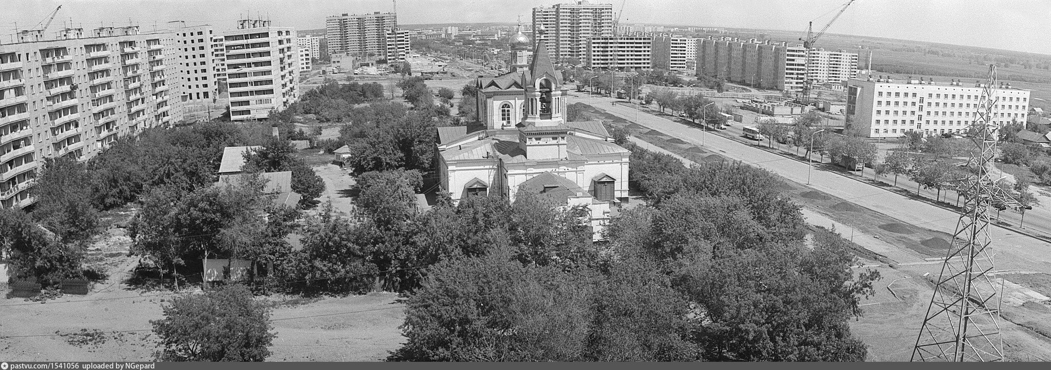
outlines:
{"label": "long low white building with small square windows, behind the steel pylon", "polygon": [[[909,131],[926,135],[966,132],[975,118],[983,83],[934,83],[875,77],[847,80],[847,129],[868,137],[899,137]],[[1029,90],[1002,84],[993,89],[1000,102],[992,121],[1002,127],[1012,119],[1026,122]]]}

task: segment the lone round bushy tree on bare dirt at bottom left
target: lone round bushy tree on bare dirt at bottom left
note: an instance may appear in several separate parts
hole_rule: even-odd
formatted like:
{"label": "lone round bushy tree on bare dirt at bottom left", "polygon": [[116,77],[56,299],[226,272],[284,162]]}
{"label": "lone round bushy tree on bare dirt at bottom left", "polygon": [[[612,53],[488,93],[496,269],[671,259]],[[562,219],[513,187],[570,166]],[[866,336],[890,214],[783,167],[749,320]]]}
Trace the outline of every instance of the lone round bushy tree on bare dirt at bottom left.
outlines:
{"label": "lone round bushy tree on bare dirt at bottom left", "polygon": [[277,336],[270,332],[270,309],[241,285],[176,298],[164,306],[164,319],[150,324],[163,347],[158,361],[262,362]]}

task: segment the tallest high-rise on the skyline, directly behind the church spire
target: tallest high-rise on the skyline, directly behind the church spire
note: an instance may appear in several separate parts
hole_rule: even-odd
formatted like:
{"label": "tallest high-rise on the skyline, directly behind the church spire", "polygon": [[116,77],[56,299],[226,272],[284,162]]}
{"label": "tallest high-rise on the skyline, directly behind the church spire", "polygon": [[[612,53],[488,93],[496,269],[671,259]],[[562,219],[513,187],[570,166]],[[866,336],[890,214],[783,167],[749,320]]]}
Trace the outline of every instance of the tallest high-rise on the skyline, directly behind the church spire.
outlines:
{"label": "tallest high-rise on the skyline, directly behind the church spire", "polygon": [[533,30],[537,42],[548,45],[548,53],[559,62],[566,58],[583,61],[588,41],[614,37],[613,4],[577,1],[533,8]]}

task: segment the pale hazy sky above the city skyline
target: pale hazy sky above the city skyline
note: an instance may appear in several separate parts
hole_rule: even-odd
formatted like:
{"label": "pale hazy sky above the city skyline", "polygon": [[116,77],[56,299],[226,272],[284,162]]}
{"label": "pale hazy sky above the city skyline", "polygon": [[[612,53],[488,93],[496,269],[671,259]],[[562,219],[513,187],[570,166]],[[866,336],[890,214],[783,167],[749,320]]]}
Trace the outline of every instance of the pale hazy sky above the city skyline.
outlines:
{"label": "pale hazy sky above the city skyline", "polygon": [[[625,0],[591,1],[614,4]],[[324,28],[325,17],[343,13],[390,12],[391,0],[0,0],[0,29],[9,42],[15,23],[26,28],[62,4],[51,27],[71,21],[84,28],[127,24],[144,28],[167,21],[210,23],[232,28],[244,15],[269,17],[274,25]],[[398,23],[530,21],[534,6],[555,0],[400,0]],[[688,24],[806,30],[820,28],[847,0],[626,0],[622,23]],[[1051,55],[1049,0],[857,0],[829,28],[832,34],[943,42]]]}

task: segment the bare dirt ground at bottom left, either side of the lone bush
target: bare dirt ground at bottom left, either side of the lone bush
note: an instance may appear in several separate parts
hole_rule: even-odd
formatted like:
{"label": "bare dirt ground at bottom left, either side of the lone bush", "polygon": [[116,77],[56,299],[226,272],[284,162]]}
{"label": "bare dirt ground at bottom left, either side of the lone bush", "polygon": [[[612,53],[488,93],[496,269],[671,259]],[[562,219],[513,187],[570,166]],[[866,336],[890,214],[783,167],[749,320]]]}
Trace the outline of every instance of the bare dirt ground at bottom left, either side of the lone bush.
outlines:
{"label": "bare dirt ground at bottom left, either side of the lone bush", "polygon": [[[109,279],[86,296],[65,295],[44,303],[9,295],[0,285],[0,357],[30,362],[151,361],[158,341],[150,320],[162,319],[171,291],[149,291],[125,280],[139,263],[128,257],[130,239],[109,228],[88,260],[108,267]],[[184,291],[192,292],[192,291]],[[284,297],[260,300],[303,302]],[[404,305],[394,293],[306,300],[276,305],[277,333],[268,361],[380,361],[404,342]]]}

